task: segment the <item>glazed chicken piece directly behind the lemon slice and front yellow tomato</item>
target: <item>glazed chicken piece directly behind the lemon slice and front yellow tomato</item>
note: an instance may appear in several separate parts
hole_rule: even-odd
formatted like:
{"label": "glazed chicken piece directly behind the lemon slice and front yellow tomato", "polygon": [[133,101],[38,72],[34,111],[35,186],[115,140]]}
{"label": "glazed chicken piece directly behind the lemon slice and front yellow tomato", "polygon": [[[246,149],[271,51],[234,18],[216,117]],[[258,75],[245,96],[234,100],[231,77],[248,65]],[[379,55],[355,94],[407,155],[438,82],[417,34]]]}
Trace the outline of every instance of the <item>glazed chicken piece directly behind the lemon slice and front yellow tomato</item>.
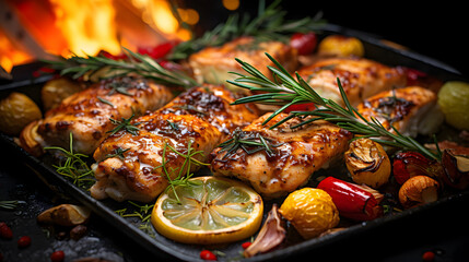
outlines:
{"label": "glazed chicken piece directly behind the lemon slice and front yellow tomato", "polygon": [[215,176],[236,177],[263,196],[278,198],[305,184],[314,171],[328,167],[345,152],[353,136],[326,121],[291,129],[300,122],[296,118],[270,130],[288,115],[280,114],[262,126],[269,116],[270,112],[238,130],[212,152],[211,170]]}

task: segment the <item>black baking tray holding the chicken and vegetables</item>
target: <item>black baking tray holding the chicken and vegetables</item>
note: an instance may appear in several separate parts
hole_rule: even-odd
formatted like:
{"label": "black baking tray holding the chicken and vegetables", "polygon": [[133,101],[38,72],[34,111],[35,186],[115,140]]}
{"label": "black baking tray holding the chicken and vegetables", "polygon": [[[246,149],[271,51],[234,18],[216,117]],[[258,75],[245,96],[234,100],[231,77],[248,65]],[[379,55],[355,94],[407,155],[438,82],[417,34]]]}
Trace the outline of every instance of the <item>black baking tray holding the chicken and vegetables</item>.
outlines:
{"label": "black baking tray holding the chicken and vegetables", "polygon": [[[327,24],[320,31],[320,36],[328,34],[341,34],[348,36],[354,36],[361,39],[365,47],[365,57],[383,62],[389,66],[402,66],[407,68],[418,69],[427,73],[429,75],[435,76],[441,81],[466,81],[466,78],[461,75],[453,67],[422,56],[412,50],[396,49],[383,41],[379,36],[371,35],[367,33],[350,29],[343,26]],[[0,85],[0,96],[4,96],[11,91],[19,91],[27,94],[36,103],[40,104],[40,86],[49,79],[49,76],[32,78],[32,72],[37,70],[40,63],[31,63],[23,67],[17,67],[13,70],[14,81]],[[19,78],[16,78],[19,76]],[[449,127],[447,127],[450,129]],[[107,223],[114,225],[122,235],[133,239],[141,247],[145,248],[156,257],[161,257],[167,260],[181,260],[181,261],[195,261],[199,260],[199,253],[204,248],[212,248],[220,250],[225,253],[223,257],[219,257],[220,261],[223,260],[246,260],[246,261],[271,261],[271,260],[284,260],[291,255],[298,255],[304,252],[310,252],[312,250],[331,246],[339,241],[347,240],[351,236],[356,236],[363,233],[373,231],[378,227],[384,227],[396,222],[406,222],[409,217],[422,212],[432,212],[436,206],[447,205],[448,202],[455,199],[467,198],[468,191],[455,191],[450,192],[436,202],[418,206],[396,213],[392,215],[384,216],[371,222],[354,223],[348,227],[347,230],[342,230],[332,235],[327,235],[320,238],[314,238],[305,241],[290,241],[284,245],[281,249],[259,254],[250,259],[243,259],[239,255],[242,251],[241,243],[230,243],[225,246],[216,247],[202,247],[196,245],[184,245],[172,241],[161,235],[159,235],[153,227],[148,226],[150,223],[141,223],[140,219],[134,217],[121,217],[116,213],[117,210],[127,207],[133,209],[129,203],[117,203],[113,200],[98,201],[90,195],[90,192],[74,186],[70,180],[63,178],[55,171],[52,167],[54,159],[47,155],[40,158],[34,157],[21,148],[14,141],[13,138],[0,133],[0,145],[2,150],[11,152],[11,157],[19,157],[30,166],[35,174],[52,190],[57,192],[63,192],[70,194],[75,200],[82,202],[89,206],[94,213],[103,217]],[[199,175],[209,172],[207,169],[199,171]],[[270,210],[273,202],[267,201],[265,204],[266,212]],[[146,225],[146,227],[142,227]],[[295,239],[294,233],[289,231],[289,238]],[[293,236],[292,236],[293,235]],[[298,236],[296,236],[298,238]],[[249,239],[247,239],[249,240]],[[244,240],[246,241],[246,240]]]}

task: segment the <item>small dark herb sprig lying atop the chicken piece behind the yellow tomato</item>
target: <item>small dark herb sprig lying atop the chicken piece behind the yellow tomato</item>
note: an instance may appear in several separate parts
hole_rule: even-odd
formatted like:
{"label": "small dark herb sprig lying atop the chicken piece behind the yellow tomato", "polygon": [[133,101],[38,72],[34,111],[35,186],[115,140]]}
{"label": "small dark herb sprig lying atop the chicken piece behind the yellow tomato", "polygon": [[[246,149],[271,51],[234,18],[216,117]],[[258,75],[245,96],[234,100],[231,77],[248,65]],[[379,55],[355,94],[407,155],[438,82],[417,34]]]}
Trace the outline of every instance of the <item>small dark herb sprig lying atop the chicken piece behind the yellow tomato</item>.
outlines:
{"label": "small dark herb sprig lying atop the chicken piece behind the yellow tomato", "polygon": [[263,138],[260,133],[253,133],[243,131],[237,128],[232,138],[221,143],[220,152],[225,152],[223,159],[232,156],[237,150],[242,148],[246,154],[250,155],[260,151],[265,151],[268,156],[274,155],[274,148],[283,145],[284,143],[274,144],[269,138]]}

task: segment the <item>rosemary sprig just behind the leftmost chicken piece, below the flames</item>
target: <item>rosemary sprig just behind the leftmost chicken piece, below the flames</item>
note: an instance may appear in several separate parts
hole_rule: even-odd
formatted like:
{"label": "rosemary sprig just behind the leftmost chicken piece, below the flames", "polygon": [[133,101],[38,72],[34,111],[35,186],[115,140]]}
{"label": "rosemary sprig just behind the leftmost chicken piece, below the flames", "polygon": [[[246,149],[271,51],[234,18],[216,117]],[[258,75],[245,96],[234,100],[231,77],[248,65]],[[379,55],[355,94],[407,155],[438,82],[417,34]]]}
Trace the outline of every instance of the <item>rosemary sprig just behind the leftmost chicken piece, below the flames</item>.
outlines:
{"label": "rosemary sprig just behind the leftmost chicken piece, below the flames", "polygon": [[93,75],[97,75],[98,79],[110,79],[133,73],[164,85],[183,87],[198,85],[196,80],[186,73],[167,70],[145,55],[132,52],[127,48],[124,48],[124,53],[128,59],[114,60],[104,56],[79,57],[73,55],[70,58],[60,57],[58,61],[43,61],[48,63],[51,69],[59,70],[61,75],[70,75],[73,79],[85,74],[90,79]]}

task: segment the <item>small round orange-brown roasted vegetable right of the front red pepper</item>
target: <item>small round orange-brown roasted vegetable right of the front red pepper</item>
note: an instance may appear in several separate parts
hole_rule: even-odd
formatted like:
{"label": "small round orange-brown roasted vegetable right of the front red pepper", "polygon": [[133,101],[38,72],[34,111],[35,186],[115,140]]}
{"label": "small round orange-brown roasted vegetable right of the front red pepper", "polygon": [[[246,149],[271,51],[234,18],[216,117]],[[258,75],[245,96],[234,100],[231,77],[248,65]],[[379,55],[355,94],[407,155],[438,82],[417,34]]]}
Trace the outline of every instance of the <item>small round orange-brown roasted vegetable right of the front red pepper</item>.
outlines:
{"label": "small round orange-brown roasted vegetable right of the front red pepper", "polygon": [[436,201],[438,187],[439,183],[431,177],[411,177],[399,189],[399,202],[404,209],[410,209]]}

